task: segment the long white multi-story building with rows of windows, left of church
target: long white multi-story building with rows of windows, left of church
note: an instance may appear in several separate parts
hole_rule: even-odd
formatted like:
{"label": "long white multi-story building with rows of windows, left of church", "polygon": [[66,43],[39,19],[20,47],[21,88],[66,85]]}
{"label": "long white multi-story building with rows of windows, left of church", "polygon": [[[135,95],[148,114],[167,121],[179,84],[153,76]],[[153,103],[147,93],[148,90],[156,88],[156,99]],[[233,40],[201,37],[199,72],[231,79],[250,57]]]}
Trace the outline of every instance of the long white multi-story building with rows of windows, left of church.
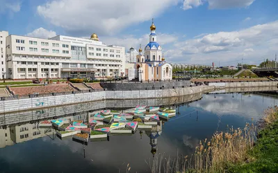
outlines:
{"label": "long white multi-story building with rows of windows, left of church", "polygon": [[124,47],[58,35],[50,39],[6,37],[6,78],[89,78],[124,75]]}

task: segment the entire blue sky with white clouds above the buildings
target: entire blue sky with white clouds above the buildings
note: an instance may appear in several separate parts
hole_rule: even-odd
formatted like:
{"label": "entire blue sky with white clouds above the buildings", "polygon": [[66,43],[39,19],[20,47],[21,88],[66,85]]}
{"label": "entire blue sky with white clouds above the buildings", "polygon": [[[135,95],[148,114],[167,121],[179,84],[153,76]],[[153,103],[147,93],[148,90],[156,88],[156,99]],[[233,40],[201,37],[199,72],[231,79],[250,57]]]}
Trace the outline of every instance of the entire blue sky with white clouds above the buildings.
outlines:
{"label": "entire blue sky with white clouds above the buildings", "polygon": [[0,0],[0,30],[89,38],[126,51],[156,25],[165,60],[220,66],[259,64],[278,53],[277,0]]}

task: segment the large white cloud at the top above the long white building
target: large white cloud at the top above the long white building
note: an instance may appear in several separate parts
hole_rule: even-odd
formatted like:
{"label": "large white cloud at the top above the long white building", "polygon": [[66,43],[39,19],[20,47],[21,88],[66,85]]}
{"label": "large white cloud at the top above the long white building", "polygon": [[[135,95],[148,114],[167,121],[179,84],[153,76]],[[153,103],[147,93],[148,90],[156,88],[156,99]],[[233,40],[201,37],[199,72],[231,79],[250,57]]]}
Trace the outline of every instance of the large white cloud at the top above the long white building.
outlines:
{"label": "large white cloud at the top above the long white building", "polygon": [[[38,14],[68,32],[114,34],[160,15],[179,0],[56,0],[38,6]],[[144,6],[147,4],[147,6]]]}

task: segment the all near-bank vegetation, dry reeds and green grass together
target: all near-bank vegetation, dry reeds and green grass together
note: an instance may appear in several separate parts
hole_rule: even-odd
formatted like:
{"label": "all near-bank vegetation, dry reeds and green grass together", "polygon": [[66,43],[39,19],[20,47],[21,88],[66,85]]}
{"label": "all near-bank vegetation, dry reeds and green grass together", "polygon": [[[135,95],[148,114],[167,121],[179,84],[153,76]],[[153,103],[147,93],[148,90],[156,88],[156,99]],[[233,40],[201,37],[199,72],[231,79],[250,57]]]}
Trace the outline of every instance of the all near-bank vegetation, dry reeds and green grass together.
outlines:
{"label": "all near-bank vegetation, dry reeds and green grass together", "polygon": [[258,125],[228,127],[200,141],[191,156],[157,154],[146,163],[152,173],[278,172],[278,107],[265,109]]}

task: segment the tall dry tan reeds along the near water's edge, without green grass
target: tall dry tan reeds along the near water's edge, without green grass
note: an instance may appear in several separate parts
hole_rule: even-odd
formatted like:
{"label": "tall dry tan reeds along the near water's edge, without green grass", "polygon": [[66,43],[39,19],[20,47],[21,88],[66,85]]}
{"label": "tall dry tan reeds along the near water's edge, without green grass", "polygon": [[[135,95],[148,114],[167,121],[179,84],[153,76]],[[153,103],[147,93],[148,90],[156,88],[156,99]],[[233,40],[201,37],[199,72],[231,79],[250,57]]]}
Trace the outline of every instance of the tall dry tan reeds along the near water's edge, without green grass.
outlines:
{"label": "tall dry tan reeds along the near water's edge, without green grass", "polygon": [[[263,113],[263,124],[270,125],[278,120],[278,107],[269,107]],[[254,158],[247,154],[257,140],[258,128],[247,123],[243,129],[228,127],[227,132],[216,132],[211,140],[202,140],[191,156],[165,158],[154,156],[147,163],[152,173],[178,172],[226,172],[231,164],[249,163]]]}

